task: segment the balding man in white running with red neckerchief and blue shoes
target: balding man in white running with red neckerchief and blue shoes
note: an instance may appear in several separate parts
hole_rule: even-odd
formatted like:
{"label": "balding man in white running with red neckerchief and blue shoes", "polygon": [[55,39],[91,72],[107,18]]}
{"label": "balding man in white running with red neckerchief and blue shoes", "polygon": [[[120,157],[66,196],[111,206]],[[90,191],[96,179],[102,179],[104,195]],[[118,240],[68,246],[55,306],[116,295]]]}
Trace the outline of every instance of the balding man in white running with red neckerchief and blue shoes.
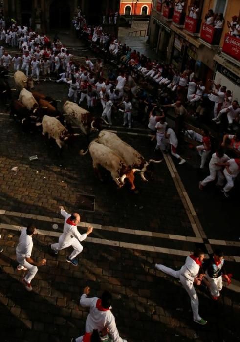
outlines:
{"label": "balding man in white running with red neckerchief and blue shoes", "polygon": [[77,213],[68,214],[63,206],[60,206],[59,208],[61,215],[65,217],[64,232],[60,235],[58,243],[50,244],[49,249],[51,252],[58,254],[59,250],[72,246],[74,250],[70,256],[66,257],[66,261],[77,266],[78,260],[76,259],[76,256],[83,250],[80,241],[85,240],[87,235],[92,232],[93,228],[89,226],[87,233],[81,235],[77,229],[77,224],[80,222],[80,215]]}

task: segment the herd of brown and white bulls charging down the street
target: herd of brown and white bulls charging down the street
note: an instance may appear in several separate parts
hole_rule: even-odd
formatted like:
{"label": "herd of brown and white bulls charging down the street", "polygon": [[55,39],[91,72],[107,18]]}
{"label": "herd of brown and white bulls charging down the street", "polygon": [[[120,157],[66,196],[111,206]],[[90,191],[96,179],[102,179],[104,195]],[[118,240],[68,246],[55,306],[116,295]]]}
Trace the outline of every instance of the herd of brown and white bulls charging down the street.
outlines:
{"label": "herd of brown and white bulls charging down the street", "polygon": [[[4,75],[2,76],[0,80],[4,80]],[[60,149],[70,137],[74,138],[79,135],[73,133],[71,124],[80,128],[86,136],[89,136],[92,131],[99,132],[98,137],[89,144],[87,151],[89,150],[94,171],[100,179],[99,166],[110,172],[119,188],[128,180],[131,190],[134,190],[134,173],[139,172],[141,178],[147,181],[144,173],[151,170],[151,163],[162,161],[153,159],[146,161],[140,153],[116,134],[102,130],[102,118],[93,117],[91,113],[73,102],[66,101],[63,105],[64,114],[61,113],[57,109],[57,103],[60,100],[54,100],[38,92],[31,92],[33,81],[21,71],[15,72],[14,81],[20,93],[18,100],[11,100],[10,114],[21,123],[24,130],[32,131],[42,126],[42,134],[47,134],[49,139],[54,139]],[[7,81],[6,84],[9,87]],[[8,92],[9,89],[6,91]],[[17,89],[10,89],[10,92],[17,91]],[[2,87],[0,91],[2,92]],[[85,155],[87,151],[84,153],[81,150],[80,154]]]}

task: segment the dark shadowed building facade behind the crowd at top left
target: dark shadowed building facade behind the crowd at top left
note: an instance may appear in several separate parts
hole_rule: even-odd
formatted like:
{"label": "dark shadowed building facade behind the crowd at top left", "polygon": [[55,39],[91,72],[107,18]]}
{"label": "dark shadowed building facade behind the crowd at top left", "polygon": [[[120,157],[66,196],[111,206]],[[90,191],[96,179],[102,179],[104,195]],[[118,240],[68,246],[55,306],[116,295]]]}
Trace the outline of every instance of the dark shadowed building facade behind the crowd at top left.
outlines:
{"label": "dark shadowed building facade behind the crowd at top left", "polygon": [[34,29],[70,29],[75,10],[80,7],[87,23],[102,22],[104,14],[119,11],[120,0],[3,0],[4,16]]}

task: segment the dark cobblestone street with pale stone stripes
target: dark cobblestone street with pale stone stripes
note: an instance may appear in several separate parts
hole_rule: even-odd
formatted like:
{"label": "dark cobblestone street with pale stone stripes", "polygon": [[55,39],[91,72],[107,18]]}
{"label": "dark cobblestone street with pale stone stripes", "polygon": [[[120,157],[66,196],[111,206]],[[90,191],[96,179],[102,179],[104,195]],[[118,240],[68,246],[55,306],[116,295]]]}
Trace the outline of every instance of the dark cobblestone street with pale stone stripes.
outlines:
{"label": "dark cobblestone street with pale stone stripes", "polygon": [[[36,91],[63,102],[67,98],[67,86],[53,82],[36,85]],[[128,342],[240,341],[238,201],[223,201],[208,190],[199,193],[191,160],[179,166],[168,155],[156,155],[144,127],[112,127],[146,160],[164,158],[154,165],[152,180],[136,175],[135,194],[127,186],[117,190],[110,177],[95,178],[89,154],[79,155],[89,143],[83,135],[59,156],[41,129],[24,134],[6,107],[0,112],[0,342],[69,342],[81,335],[87,310],[79,299],[85,286],[91,296],[104,289],[113,294],[112,312]],[[38,159],[30,161],[33,155]],[[16,166],[18,171],[12,171]],[[63,230],[59,205],[79,212],[81,233],[88,223],[94,228],[83,242],[78,267],[65,260],[70,248],[58,256],[47,252]],[[19,230],[30,222],[39,230],[33,257],[47,259],[32,281],[32,293],[21,284],[24,271],[17,271],[15,254]],[[181,284],[155,271],[154,264],[179,269],[195,247],[208,253],[218,246],[234,280],[217,302],[205,288],[197,289],[200,314],[208,321],[199,326]]]}

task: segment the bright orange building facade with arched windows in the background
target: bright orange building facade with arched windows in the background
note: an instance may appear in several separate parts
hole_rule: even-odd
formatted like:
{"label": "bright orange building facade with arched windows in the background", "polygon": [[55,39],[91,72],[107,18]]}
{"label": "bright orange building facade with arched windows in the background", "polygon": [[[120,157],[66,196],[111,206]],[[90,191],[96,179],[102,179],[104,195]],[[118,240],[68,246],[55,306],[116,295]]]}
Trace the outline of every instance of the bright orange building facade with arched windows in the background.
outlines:
{"label": "bright orange building facade with arched windows in the background", "polygon": [[121,0],[120,15],[150,15],[153,6],[152,0]]}

